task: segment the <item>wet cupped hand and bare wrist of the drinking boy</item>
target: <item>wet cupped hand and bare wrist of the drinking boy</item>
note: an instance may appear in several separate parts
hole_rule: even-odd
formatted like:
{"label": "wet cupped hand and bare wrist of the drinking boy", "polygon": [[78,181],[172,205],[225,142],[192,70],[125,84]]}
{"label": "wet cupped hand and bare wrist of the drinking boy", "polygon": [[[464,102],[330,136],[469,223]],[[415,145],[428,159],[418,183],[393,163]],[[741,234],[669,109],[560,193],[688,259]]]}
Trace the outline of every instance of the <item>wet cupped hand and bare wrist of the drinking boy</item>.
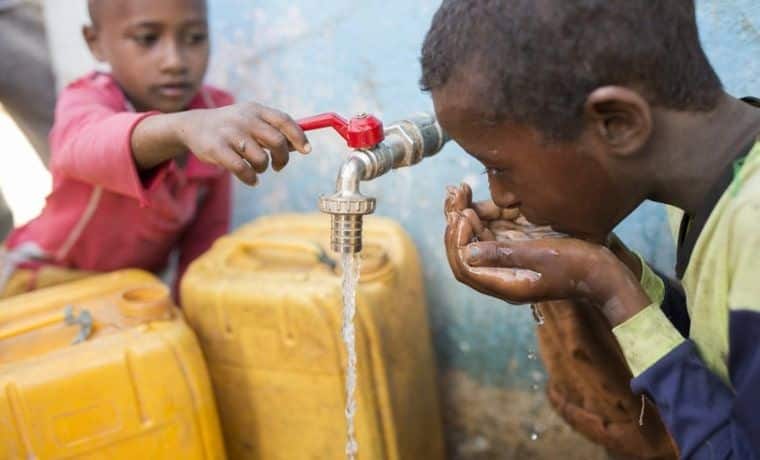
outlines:
{"label": "wet cupped hand and bare wrist of the drinking boy", "polygon": [[[612,326],[651,302],[635,275],[606,247],[574,238],[471,243],[474,229],[448,213],[446,253],[454,276],[510,303],[578,299],[598,305]],[[531,273],[532,272],[532,273]]]}

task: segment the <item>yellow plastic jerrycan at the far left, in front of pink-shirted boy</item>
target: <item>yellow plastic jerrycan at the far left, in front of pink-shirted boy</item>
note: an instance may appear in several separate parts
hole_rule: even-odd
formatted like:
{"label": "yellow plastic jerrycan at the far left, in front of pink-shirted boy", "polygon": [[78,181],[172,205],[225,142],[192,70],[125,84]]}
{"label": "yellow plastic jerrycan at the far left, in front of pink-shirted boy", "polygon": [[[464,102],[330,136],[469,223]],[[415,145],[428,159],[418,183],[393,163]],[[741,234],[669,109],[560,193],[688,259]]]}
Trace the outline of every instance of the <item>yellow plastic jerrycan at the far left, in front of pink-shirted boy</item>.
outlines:
{"label": "yellow plastic jerrycan at the far left, in front of pink-shirted boy", "polygon": [[225,458],[195,335],[145,272],[0,302],[0,389],[2,459]]}

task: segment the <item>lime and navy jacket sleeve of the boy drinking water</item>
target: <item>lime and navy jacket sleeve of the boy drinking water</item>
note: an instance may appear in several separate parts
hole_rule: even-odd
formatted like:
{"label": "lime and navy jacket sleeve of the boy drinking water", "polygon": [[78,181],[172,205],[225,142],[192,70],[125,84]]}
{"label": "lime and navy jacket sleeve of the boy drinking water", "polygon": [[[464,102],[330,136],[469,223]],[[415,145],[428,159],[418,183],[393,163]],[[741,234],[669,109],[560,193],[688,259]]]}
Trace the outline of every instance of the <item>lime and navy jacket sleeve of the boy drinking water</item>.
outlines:
{"label": "lime and navy jacket sleeve of the boy drinking water", "polygon": [[[615,330],[634,372],[633,390],[657,404],[683,458],[760,458],[760,209],[744,206],[736,215],[728,256],[729,382],[707,367],[694,342],[668,327],[664,306]],[[664,302],[679,297],[668,281]]]}

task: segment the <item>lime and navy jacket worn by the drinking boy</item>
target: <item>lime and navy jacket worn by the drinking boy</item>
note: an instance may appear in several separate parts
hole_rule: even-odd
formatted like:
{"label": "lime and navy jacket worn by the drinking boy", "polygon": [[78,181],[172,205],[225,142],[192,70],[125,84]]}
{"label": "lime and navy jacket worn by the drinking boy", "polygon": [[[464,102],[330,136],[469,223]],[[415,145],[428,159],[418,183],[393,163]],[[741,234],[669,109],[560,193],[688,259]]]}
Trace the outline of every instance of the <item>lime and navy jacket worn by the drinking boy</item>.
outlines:
{"label": "lime and navy jacket worn by the drinking boy", "polygon": [[681,282],[644,264],[652,304],[613,331],[632,388],[655,402],[682,458],[760,460],[760,139],[678,239]]}

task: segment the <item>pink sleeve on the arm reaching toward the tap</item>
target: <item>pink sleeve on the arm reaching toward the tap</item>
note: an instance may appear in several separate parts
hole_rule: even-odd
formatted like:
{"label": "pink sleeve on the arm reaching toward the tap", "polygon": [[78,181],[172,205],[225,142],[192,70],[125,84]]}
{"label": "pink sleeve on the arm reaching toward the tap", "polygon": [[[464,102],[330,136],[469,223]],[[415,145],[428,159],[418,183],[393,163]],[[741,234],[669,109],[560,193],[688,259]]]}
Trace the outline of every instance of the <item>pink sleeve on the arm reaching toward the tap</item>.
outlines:
{"label": "pink sleeve on the arm reaching toward the tap", "polygon": [[149,179],[141,179],[131,138],[140,121],[158,112],[126,112],[115,107],[118,103],[118,97],[97,88],[66,89],[56,106],[50,134],[51,170],[148,206],[147,191],[162,179],[169,163],[151,171]]}

